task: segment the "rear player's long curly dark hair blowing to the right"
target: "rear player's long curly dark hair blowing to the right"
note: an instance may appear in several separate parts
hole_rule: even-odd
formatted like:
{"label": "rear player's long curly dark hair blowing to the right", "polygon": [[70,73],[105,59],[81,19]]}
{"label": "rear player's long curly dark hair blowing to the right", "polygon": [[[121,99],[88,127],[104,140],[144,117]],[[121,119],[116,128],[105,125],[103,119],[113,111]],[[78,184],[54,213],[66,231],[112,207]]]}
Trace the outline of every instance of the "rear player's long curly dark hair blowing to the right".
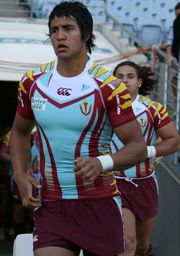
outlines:
{"label": "rear player's long curly dark hair blowing to the right", "polygon": [[157,80],[152,78],[154,73],[152,72],[151,66],[142,66],[142,64],[137,65],[133,61],[123,61],[119,63],[113,71],[114,76],[118,67],[122,66],[134,67],[137,73],[137,79],[142,79],[142,86],[139,88],[140,95],[149,95],[150,92],[154,89],[155,84],[158,83]]}

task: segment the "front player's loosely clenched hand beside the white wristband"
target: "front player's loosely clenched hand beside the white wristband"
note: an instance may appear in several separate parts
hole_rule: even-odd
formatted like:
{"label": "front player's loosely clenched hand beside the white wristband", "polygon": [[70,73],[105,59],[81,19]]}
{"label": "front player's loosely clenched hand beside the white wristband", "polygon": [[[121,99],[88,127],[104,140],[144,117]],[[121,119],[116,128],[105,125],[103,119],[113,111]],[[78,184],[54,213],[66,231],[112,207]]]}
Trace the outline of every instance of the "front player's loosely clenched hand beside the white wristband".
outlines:
{"label": "front player's loosely clenched hand beside the white wristband", "polygon": [[94,181],[102,172],[101,162],[96,157],[77,157],[74,164],[76,175],[88,182]]}

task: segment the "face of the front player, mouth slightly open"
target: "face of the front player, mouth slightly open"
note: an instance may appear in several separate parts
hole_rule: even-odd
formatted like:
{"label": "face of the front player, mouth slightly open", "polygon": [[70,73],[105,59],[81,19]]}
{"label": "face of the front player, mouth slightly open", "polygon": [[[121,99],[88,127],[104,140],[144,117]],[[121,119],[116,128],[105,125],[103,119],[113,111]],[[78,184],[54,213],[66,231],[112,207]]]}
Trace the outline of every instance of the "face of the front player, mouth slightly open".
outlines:
{"label": "face of the front player, mouth slightly open", "polygon": [[50,39],[58,58],[81,58],[86,54],[86,42],[81,39],[81,32],[76,20],[55,17],[50,22]]}

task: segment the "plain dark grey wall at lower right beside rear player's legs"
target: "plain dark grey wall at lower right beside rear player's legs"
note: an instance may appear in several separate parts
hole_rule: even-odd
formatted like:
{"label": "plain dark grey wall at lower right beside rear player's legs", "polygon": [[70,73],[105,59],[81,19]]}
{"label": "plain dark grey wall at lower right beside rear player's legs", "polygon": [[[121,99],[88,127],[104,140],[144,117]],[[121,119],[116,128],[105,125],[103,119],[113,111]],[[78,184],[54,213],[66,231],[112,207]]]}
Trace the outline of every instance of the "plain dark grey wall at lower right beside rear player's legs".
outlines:
{"label": "plain dark grey wall at lower right beside rear player's legs", "polygon": [[161,164],[156,167],[156,175],[159,186],[159,210],[151,239],[152,254],[180,256],[180,185],[178,178],[176,175],[171,175],[171,172],[168,172]]}

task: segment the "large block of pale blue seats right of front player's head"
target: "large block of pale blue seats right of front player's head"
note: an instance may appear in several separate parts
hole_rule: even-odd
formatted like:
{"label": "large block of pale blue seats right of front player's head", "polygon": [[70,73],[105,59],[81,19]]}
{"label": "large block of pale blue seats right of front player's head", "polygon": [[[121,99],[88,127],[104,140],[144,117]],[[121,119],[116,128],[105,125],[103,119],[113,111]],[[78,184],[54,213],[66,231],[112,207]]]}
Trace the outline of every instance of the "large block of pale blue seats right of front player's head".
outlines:
{"label": "large block of pale blue seats right of front player's head", "polygon": [[[107,0],[107,11],[144,45],[160,45],[167,39],[178,0]],[[127,36],[128,37],[128,36]]]}

